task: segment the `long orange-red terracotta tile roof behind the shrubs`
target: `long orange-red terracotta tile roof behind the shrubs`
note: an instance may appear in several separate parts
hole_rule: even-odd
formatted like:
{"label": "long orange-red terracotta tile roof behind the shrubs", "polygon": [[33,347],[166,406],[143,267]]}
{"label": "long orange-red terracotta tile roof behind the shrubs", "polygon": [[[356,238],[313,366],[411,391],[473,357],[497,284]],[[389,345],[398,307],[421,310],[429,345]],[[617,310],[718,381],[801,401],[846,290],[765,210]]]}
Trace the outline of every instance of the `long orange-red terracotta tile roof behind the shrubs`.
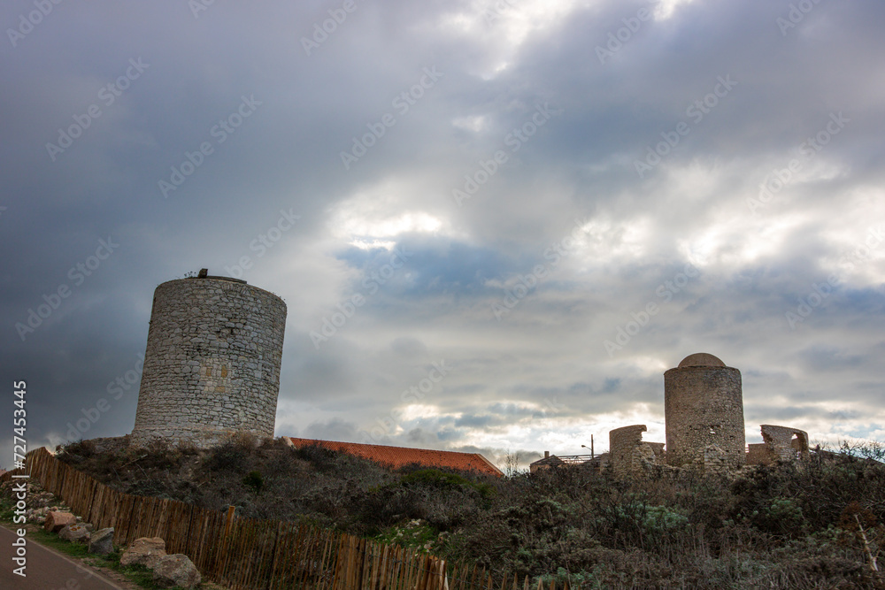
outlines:
{"label": "long orange-red terracotta tile roof behind the shrubs", "polygon": [[480,473],[488,473],[490,475],[503,475],[501,470],[479,453],[437,451],[429,448],[388,447],[386,445],[369,445],[359,442],[317,441],[314,439],[296,439],[289,436],[284,436],[283,439],[295,448],[318,445],[319,447],[362,457],[394,469],[408,464],[419,464],[426,467],[449,467],[450,469],[460,471],[479,471]]}

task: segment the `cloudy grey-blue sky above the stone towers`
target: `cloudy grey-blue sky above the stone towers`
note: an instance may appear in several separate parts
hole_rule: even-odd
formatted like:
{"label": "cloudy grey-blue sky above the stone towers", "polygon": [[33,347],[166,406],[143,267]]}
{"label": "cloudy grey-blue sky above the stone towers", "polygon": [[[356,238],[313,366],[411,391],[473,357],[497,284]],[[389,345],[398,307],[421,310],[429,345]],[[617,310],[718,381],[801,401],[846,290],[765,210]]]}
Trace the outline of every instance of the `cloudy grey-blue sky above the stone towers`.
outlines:
{"label": "cloudy grey-blue sky above the stone towers", "polygon": [[204,267],[288,304],[278,435],[663,441],[704,351],[749,442],[885,439],[877,0],[0,16],[0,465],[22,379],[32,448],[129,433],[153,290]]}

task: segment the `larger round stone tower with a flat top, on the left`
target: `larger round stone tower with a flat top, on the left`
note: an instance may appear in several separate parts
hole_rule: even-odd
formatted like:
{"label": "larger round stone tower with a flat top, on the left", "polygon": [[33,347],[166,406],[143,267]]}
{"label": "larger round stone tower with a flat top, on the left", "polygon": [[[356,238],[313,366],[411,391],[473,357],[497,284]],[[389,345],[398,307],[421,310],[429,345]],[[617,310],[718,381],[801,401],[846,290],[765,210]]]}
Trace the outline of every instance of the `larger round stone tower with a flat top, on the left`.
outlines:
{"label": "larger round stone tower with a flat top, on the left", "polygon": [[154,291],[132,442],[273,436],[286,303],[243,280],[170,280]]}

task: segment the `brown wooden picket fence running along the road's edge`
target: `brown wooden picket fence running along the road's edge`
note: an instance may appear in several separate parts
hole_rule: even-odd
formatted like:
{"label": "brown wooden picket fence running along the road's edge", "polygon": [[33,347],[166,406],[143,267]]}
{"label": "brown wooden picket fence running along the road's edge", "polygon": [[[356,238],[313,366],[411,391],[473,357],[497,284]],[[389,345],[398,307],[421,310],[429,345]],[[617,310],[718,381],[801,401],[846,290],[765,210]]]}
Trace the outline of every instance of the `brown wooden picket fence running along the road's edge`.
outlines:
{"label": "brown wooden picket fence running along the road's edge", "polygon": [[[528,590],[529,579],[496,581],[477,566],[447,564],[427,554],[312,525],[235,518],[184,502],[123,494],[45,448],[27,455],[26,469],[96,530],[113,527],[123,547],[161,537],[166,552],[189,556],[205,579],[233,590]],[[531,585],[532,590],[548,590]],[[549,590],[556,590],[551,583]],[[567,589],[566,589],[567,590]]]}

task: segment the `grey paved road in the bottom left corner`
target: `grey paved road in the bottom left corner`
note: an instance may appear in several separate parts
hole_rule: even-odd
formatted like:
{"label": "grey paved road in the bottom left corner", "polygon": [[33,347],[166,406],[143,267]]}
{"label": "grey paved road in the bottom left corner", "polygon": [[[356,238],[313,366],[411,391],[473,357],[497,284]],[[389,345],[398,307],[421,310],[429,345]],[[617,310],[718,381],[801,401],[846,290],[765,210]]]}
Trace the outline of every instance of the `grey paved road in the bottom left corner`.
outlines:
{"label": "grey paved road in the bottom left corner", "polygon": [[12,561],[12,541],[18,536],[5,526],[0,526],[0,588],[3,590],[123,590],[95,571],[85,569],[56,553],[27,540],[27,577],[12,573],[17,568]]}

